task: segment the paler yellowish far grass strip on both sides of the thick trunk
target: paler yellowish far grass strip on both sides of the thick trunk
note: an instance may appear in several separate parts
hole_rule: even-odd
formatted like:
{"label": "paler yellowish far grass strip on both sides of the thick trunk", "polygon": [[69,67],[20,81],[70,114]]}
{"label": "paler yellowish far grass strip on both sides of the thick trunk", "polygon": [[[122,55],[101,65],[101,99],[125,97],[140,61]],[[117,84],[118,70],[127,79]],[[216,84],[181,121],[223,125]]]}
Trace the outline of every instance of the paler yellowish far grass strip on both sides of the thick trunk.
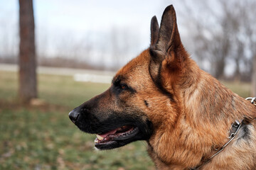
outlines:
{"label": "paler yellowish far grass strip on both sides of the thick trunk", "polygon": [[[40,74],[38,96],[48,103],[74,108],[96,94],[105,91],[109,84],[77,82],[70,76]],[[18,90],[18,75],[14,72],[0,72],[0,99],[14,100]]]}

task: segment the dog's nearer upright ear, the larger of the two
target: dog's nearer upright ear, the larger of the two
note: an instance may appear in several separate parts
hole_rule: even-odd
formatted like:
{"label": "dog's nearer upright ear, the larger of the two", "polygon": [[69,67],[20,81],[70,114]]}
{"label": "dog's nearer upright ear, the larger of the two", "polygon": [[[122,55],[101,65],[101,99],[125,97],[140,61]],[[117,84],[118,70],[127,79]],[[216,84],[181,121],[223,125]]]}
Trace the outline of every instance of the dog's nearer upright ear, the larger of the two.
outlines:
{"label": "dog's nearer upright ear, the larger of the two", "polygon": [[151,45],[149,49],[151,55],[149,72],[154,81],[161,81],[162,72],[169,73],[182,69],[183,61],[188,57],[178,33],[174,6],[167,6],[164,10],[158,39],[152,41],[152,34],[156,33],[151,31],[151,44],[152,42],[156,44]]}

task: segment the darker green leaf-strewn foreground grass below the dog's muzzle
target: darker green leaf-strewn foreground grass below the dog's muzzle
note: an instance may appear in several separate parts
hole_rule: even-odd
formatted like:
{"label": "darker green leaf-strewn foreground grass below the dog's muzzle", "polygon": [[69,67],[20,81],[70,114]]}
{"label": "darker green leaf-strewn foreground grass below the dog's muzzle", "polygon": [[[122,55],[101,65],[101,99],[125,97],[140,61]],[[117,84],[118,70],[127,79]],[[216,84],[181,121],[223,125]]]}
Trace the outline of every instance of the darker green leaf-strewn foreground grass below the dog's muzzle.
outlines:
{"label": "darker green leaf-strewn foreground grass below the dog's muzzle", "polygon": [[80,132],[65,112],[4,109],[0,131],[0,169],[147,169],[152,165],[142,142],[96,152],[95,136]]}

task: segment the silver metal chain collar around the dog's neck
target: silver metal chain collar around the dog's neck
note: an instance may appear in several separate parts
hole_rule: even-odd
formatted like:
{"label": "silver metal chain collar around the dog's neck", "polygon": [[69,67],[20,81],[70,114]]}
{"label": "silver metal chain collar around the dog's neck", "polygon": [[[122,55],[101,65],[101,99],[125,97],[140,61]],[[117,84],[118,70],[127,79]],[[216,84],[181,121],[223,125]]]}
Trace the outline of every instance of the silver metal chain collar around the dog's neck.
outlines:
{"label": "silver metal chain collar around the dog's neck", "polygon": [[[245,98],[245,100],[250,101],[250,103],[252,103],[253,105],[256,106],[256,97],[252,98],[252,97],[248,97]],[[242,120],[243,121],[243,120]],[[197,170],[200,169],[202,166],[204,166],[205,164],[207,164],[208,162],[210,162],[211,159],[213,159],[213,157],[215,157],[216,155],[218,155],[220,152],[223,151],[223,149],[225,149],[225,147],[235,138],[235,135],[238,133],[238,130],[240,129],[242,125],[242,122],[240,123],[238,120],[235,120],[235,122],[232,124],[231,129],[230,129],[230,136],[228,137],[228,142],[225,143],[225,145],[223,145],[223,147],[220,147],[218,149],[215,149],[217,152],[215,154],[213,154],[209,159],[207,159],[205,162],[203,162],[201,165],[196,166],[195,168],[190,168],[189,170]]]}

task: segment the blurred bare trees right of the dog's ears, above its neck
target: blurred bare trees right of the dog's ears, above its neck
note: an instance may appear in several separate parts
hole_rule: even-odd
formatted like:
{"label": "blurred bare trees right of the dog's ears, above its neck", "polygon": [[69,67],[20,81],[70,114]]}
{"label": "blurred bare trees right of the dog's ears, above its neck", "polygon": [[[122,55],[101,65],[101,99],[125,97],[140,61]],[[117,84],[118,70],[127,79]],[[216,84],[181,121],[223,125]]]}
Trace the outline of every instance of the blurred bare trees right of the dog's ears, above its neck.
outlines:
{"label": "blurred bare trees right of the dog's ears, above its neck", "polygon": [[256,1],[195,0],[183,4],[184,15],[190,16],[186,24],[193,36],[192,51],[201,63],[208,63],[201,67],[221,79],[225,77],[225,68],[233,65],[236,80],[249,80],[256,55]]}

